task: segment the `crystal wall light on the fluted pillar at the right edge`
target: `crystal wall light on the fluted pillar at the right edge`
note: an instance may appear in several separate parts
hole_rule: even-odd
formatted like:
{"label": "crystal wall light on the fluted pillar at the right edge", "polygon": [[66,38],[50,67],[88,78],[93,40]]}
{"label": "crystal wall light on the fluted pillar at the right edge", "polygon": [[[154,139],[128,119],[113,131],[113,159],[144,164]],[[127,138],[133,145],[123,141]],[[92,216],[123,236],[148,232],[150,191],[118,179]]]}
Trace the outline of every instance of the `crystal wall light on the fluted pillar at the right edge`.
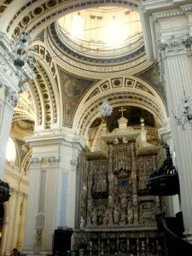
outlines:
{"label": "crystal wall light on the fluted pillar at the right edge", "polygon": [[173,114],[176,119],[177,125],[180,125],[182,127],[182,130],[186,130],[185,124],[189,124],[190,128],[192,129],[192,102],[190,97],[185,95],[185,91],[183,91],[183,95],[183,106],[180,117],[177,117],[177,115],[174,113]]}

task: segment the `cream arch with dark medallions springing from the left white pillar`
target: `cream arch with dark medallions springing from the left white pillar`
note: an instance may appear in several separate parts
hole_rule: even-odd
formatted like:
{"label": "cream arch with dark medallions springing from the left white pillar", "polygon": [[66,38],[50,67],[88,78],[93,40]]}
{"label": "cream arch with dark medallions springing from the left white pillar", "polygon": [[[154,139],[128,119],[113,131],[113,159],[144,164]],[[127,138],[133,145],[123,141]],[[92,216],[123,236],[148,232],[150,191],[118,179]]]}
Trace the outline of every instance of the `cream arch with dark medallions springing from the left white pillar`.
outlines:
{"label": "cream arch with dark medallions springing from the left white pillar", "polygon": [[[60,125],[59,89],[55,84],[55,64],[44,44],[35,45],[38,65],[34,67],[36,79],[28,83],[36,116],[36,129],[49,129]],[[44,60],[44,61],[43,61]],[[55,85],[53,85],[55,84]]]}

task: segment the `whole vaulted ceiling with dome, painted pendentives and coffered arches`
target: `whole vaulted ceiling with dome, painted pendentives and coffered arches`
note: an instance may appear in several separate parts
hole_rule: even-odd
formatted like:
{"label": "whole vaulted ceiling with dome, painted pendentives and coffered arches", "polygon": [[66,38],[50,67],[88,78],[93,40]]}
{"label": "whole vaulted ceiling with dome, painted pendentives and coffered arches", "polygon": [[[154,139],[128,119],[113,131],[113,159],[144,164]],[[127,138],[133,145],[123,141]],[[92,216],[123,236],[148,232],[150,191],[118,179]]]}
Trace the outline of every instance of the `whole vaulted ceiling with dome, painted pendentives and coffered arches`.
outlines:
{"label": "whole vaulted ceiling with dome, painted pendentives and coffered arches", "polygon": [[109,131],[123,106],[129,125],[139,126],[142,116],[155,134],[166,121],[166,97],[158,65],[145,54],[140,2],[1,1],[1,30],[13,41],[27,30],[29,55],[36,60],[36,79],[26,83],[15,108],[15,137],[61,127],[85,137],[101,125],[98,109],[104,98],[113,107],[106,118]]}

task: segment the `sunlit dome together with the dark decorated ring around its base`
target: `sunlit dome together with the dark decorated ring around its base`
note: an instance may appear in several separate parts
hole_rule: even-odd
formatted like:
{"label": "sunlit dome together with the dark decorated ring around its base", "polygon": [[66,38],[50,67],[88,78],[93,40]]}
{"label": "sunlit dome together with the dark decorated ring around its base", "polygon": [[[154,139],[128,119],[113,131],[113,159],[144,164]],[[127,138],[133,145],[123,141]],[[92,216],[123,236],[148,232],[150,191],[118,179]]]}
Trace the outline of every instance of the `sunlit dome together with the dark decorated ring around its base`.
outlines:
{"label": "sunlit dome together with the dark decorated ring around its base", "polygon": [[147,61],[139,9],[134,4],[64,15],[49,26],[49,45],[55,55],[67,56],[67,64],[73,67],[74,61],[81,70],[91,65],[90,72],[117,72]]}

